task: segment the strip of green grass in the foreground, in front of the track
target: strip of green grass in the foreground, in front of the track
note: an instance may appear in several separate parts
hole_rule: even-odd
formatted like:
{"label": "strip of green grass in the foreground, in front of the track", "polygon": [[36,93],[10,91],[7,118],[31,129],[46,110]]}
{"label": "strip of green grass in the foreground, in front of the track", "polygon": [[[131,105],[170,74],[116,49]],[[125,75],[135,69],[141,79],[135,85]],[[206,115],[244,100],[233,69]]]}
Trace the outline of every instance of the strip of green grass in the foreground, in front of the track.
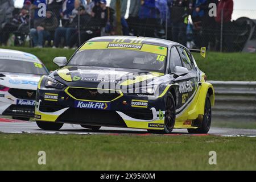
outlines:
{"label": "strip of green grass in the foreground, in front of the track", "polygon": [[[256,138],[0,134],[0,141],[0,170],[256,169]],[[209,151],[217,152],[216,166]]]}

